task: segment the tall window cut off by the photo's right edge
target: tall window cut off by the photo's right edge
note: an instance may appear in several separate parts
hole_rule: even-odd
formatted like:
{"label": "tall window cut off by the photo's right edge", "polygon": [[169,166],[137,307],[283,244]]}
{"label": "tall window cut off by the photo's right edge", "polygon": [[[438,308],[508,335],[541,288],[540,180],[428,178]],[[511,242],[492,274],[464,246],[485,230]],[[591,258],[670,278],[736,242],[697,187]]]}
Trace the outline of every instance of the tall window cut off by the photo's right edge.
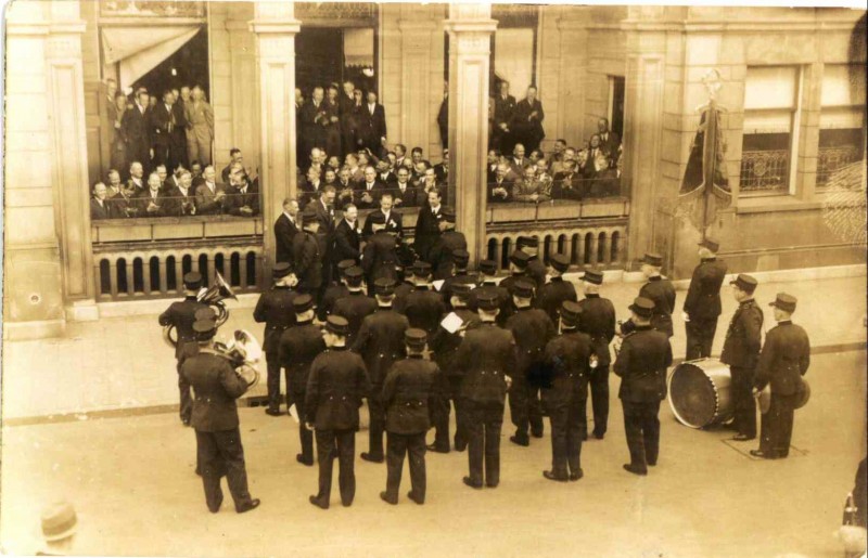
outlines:
{"label": "tall window cut off by the photo's right edge", "polygon": [[827,64],[822,74],[817,186],[865,156],[865,66]]}

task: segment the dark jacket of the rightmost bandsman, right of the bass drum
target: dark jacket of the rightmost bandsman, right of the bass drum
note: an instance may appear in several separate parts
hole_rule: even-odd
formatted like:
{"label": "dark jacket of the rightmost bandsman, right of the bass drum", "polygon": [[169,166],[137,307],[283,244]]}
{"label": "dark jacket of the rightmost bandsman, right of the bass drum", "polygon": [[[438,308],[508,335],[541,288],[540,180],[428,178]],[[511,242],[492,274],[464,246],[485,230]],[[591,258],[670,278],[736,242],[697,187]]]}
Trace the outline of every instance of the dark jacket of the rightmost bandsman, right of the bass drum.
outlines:
{"label": "dark jacket of the rightmost bandsman, right of the bass drum", "polygon": [[766,334],[756,364],[754,386],[771,384],[771,393],[792,395],[802,388],[802,376],[810,365],[810,341],[802,326],[780,322]]}

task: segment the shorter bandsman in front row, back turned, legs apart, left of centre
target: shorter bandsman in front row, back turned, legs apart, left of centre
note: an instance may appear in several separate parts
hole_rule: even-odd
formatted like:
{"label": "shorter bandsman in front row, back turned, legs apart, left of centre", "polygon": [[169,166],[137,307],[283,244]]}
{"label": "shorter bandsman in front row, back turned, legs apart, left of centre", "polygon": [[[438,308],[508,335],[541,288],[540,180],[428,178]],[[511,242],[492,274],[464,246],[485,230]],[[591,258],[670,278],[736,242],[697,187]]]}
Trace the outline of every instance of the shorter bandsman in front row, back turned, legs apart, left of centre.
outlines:
{"label": "shorter bandsman in front row, back turned, legs apart, left of centre", "polygon": [[407,497],[425,503],[425,433],[431,428],[429,410],[434,399],[434,385],[439,381],[437,364],[424,360],[427,334],[410,328],[404,333],[407,358],[397,361],[383,384],[386,408],[386,490],[380,497],[387,504],[398,503],[398,489],[404,458],[410,457],[410,486]]}

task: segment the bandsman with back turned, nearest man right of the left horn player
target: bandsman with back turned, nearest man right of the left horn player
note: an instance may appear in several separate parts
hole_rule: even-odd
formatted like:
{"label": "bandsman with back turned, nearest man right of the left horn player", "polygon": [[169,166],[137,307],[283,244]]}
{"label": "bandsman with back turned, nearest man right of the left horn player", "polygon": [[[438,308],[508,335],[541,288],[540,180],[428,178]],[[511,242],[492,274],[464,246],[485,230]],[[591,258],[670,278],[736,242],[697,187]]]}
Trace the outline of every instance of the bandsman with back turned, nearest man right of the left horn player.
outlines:
{"label": "bandsman with back turned, nearest man right of the left horn player", "polygon": [[305,420],[317,437],[319,491],[310,503],[328,509],[332,492],[332,454],[340,466],[339,486],[344,507],[353,505],[356,495],[356,432],[359,429],[361,399],[371,393],[362,359],[346,350],[347,322],[329,316],[322,338],[328,350],[310,365],[305,393]]}

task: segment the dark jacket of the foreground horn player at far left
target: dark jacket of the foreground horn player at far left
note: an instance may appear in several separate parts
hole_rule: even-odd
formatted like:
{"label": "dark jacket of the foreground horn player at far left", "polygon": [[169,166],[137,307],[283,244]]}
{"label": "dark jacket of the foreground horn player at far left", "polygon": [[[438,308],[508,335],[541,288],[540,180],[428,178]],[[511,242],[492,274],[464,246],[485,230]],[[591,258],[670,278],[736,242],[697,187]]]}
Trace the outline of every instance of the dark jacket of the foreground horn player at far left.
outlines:
{"label": "dark jacket of the foreground horn player at far left", "polygon": [[247,382],[227,359],[200,349],[181,364],[181,375],[195,393],[190,424],[202,432],[219,432],[238,428],[235,400],[247,391]]}

